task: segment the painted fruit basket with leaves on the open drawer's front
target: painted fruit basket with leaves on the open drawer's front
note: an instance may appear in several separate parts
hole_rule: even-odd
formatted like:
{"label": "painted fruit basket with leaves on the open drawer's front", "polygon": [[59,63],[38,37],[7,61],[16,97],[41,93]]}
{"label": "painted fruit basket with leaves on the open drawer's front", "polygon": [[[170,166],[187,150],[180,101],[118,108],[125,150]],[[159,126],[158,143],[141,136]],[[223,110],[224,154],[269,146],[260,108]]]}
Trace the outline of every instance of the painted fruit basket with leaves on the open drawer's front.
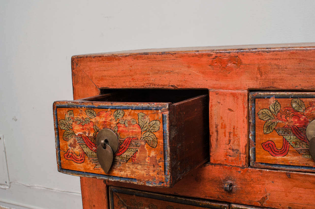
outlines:
{"label": "painted fruit basket with leaves on the open drawer's front", "polygon": [[[144,113],[138,113],[138,121],[134,118],[124,119],[123,110],[85,110],[86,117],[75,117],[73,110],[69,110],[65,119],[58,121],[63,132],[63,140],[68,141],[69,149],[64,153],[66,160],[75,163],[83,163],[85,155],[95,164],[94,169],[101,169],[96,158],[95,136],[100,129],[108,128],[118,136],[119,147],[114,155],[113,166],[121,166],[122,163],[132,162],[137,159],[141,144],[148,144],[152,148],[157,146],[157,137],[154,132],[160,129],[160,121],[152,120]],[[80,151],[76,149],[77,144]]]}

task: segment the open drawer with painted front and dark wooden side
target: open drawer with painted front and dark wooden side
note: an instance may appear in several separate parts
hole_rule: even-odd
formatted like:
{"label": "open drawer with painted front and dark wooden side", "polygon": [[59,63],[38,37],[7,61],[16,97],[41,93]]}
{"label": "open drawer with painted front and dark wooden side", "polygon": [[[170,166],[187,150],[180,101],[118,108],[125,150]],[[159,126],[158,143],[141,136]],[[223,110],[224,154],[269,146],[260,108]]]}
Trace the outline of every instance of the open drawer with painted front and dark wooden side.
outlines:
{"label": "open drawer with painted front and dark wooden side", "polygon": [[[143,92],[117,90],[81,100],[54,102],[58,170],[77,176],[172,187],[187,172],[208,161],[208,95],[146,92],[144,96]],[[108,141],[107,145],[97,141],[104,130],[117,137],[118,142],[116,149],[110,149],[112,163],[108,172],[102,168],[110,161],[109,154],[98,154],[108,145]]]}

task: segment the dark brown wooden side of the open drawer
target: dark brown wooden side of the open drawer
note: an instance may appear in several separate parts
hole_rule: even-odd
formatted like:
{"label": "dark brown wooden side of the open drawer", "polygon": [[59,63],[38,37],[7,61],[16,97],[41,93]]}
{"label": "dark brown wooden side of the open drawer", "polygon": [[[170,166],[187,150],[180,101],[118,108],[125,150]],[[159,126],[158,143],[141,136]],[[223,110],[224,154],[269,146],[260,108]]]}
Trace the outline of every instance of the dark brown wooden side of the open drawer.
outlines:
{"label": "dark brown wooden side of the open drawer", "polygon": [[170,105],[170,163],[174,183],[209,161],[208,96]]}

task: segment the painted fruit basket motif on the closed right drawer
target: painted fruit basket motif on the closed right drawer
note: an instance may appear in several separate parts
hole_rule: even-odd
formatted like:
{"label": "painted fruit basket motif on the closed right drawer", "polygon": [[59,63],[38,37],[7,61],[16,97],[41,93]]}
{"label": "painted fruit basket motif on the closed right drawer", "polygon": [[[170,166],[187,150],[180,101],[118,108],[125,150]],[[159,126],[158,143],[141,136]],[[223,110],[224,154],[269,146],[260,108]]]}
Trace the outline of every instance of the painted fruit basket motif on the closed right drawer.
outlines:
{"label": "painted fruit basket motif on the closed right drawer", "polygon": [[315,102],[310,101],[309,107],[301,99],[292,99],[291,107],[284,107],[278,100],[274,100],[269,109],[258,112],[259,119],[266,121],[263,127],[264,134],[274,130],[283,137],[282,148],[278,149],[272,140],[262,143],[264,150],[272,156],[285,156],[291,145],[303,158],[312,158],[308,149],[306,127],[315,119]]}

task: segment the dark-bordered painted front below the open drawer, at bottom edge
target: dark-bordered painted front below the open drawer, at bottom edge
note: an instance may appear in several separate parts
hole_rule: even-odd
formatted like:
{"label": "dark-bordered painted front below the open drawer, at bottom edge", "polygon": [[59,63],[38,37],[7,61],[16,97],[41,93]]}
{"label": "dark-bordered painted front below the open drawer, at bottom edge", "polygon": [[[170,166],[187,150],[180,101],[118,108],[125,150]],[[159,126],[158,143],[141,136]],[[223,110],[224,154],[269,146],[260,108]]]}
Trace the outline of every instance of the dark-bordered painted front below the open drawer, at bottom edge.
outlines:
{"label": "dark-bordered painted front below the open drawer, at bottom edge", "polygon": [[229,204],[109,187],[110,209],[228,209]]}

